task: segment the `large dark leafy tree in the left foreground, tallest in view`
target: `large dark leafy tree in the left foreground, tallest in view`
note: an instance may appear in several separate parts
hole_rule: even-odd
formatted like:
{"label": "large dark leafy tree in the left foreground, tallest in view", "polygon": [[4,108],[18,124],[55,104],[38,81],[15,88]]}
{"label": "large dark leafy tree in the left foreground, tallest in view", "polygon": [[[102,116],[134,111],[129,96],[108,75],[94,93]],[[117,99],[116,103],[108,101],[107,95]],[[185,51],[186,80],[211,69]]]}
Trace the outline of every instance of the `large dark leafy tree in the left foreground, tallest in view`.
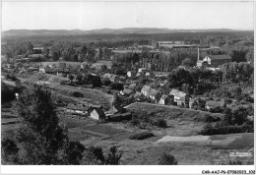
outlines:
{"label": "large dark leafy tree in the left foreground, tallest in view", "polygon": [[83,146],[69,142],[48,89],[30,85],[19,95],[14,110],[22,118],[22,127],[15,133],[19,164],[72,164],[82,158]]}

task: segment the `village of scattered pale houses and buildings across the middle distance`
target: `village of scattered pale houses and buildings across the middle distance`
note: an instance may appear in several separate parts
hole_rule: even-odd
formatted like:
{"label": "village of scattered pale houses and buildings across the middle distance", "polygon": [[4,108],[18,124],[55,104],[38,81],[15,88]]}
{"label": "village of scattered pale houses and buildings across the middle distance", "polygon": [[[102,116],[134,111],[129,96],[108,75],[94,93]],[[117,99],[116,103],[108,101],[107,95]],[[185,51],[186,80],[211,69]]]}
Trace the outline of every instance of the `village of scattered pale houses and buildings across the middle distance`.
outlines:
{"label": "village of scattered pale houses and buildings across the middle distance", "polygon": [[[194,45],[186,45],[180,41],[165,41],[159,42],[160,44],[165,44],[165,46],[171,47],[195,47]],[[169,43],[169,45],[168,45]],[[177,43],[177,44],[174,44]],[[144,48],[147,45],[143,46]],[[149,46],[148,46],[149,47]],[[153,46],[152,46],[153,47]],[[139,53],[142,52],[141,46],[138,48],[132,47],[126,50],[112,50],[113,58],[116,54],[119,55],[121,52],[132,52]],[[151,48],[152,49],[152,48]],[[29,58],[16,59],[15,61],[9,59],[8,63],[2,64],[2,71],[4,71],[8,77],[10,75],[19,74],[49,74],[55,75],[57,77],[68,78],[68,81],[62,81],[61,84],[71,85],[72,83],[79,85],[83,84],[82,78],[86,74],[90,74],[93,77],[98,77],[103,84],[105,85],[117,85],[113,90],[109,90],[108,93],[112,95],[117,95],[118,98],[122,101],[121,103],[117,102],[118,106],[122,108],[126,105],[129,105],[132,102],[150,102],[160,105],[176,105],[182,108],[194,109],[197,106],[200,106],[201,110],[214,111],[216,108],[225,108],[226,106],[237,105],[241,101],[237,101],[235,98],[227,100],[227,98],[221,98],[218,96],[203,96],[203,95],[191,95],[188,92],[182,91],[180,88],[171,88],[169,91],[166,91],[164,87],[168,84],[166,72],[156,72],[149,69],[147,64],[146,68],[139,68],[138,65],[135,65],[133,70],[127,71],[124,68],[118,69],[117,74],[113,73],[112,66],[113,61],[110,58],[104,58],[103,60],[96,61],[95,64],[89,64],[87,62],[65,62],[62,58],[58,62],[32,62],[32,59],[37,57],[43,57],[41,55],[43,48],[42,47],[33,47],[33,53]],[[96,49],[98,52],[98,49]],[[156,52],[156,50],[151,50]],[[160,52],[157,50],[157,52]],[[39,54],[38,54],[39,53]],[[96,53],[98,54],[98,53]],[[220,67],[225,63],[231,62],[231,57],[229,55],[207,55],[202,60],[199,58],[199,47],[198,47],[198,61],[196,66],[192,69],[205,69],[211,70],[213,72],[219,71]],[[2,61],[3,60],[2,58]],[[39,62],[40,63],[40,62]],[[150,63],[149,63],[150,64]],[[136,67],[138,69],[136,69]],[[177,69],[189,69],[185,66],[179,66]],[[90,70],[92,72],[90,72]],[[106,72],[106,73],[104,73]],[[147,80],[146,84],[142,83],[142,79]],[[157,82],[155,80],[158,80]],[[100,82],[99,81],[99,82]],[[42,84],[49,84],[48,82],[41,82]],[[51,82],[54,83],[54,82]],[[145,85],[144,85],[145,84]],[[109,87],[108,87],[109,88]],[[110,88],[111,89],[111,88]],[[253,95],[250,94],[251,98]],[[249,96],[249,97],[250,97]],[[226,103],[228,101],[228,104]],[[115,102],[115,101],[114,101]],[[113,108],[116,108],[114,105]],[[105,116],[109,117],[109,111],[102,111],[102,106],[94,106],[95,110],[92,110],[92,106],[86,106],[85,104],[81,105],[71,105],[68,104],[67,111],[76,112],[82,115],[91,116],[92,118],[99,120],[105,119]],[[123,110],[113,110],[112,115],[116,112]],[[114,115],[116,116],[116,115]],[[127,114],[120,114],[124,120],[127,119]]]}

